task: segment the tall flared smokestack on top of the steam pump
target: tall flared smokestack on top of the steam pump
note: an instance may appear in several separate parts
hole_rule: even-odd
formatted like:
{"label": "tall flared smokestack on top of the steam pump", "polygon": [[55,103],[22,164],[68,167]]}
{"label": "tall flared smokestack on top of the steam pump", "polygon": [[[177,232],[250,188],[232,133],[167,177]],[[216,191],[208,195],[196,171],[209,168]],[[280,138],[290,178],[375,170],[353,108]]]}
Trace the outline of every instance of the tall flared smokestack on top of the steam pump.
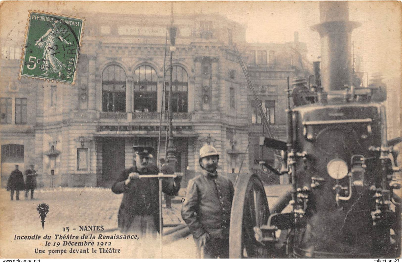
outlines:
{"label": "tall flared smokestack on top of the steam pump", "polygon": [[326,92],[352,83],[351,33],[360,23],[349,21],[347,1],[320,2],[321,84]]}

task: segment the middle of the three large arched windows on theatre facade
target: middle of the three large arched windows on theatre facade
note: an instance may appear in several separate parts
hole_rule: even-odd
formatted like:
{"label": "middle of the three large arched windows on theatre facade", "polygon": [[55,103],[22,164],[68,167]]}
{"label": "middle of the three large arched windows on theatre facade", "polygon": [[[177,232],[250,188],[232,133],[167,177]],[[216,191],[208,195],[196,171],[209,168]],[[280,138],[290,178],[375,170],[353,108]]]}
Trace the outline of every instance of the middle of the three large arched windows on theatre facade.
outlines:
{"label": "middle of the three large arched windows on theatre facade", "polygon": [[134,112],[156,112],[158,75],[153,67],[142,65],[134,71]]}

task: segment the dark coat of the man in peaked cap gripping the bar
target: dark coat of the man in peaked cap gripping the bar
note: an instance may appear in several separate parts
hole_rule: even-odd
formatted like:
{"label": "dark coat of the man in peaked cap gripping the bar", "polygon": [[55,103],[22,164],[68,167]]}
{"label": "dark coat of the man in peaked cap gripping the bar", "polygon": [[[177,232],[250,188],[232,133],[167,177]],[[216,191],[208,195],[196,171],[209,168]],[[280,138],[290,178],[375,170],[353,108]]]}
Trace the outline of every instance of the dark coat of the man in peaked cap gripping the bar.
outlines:
{"label": "dark coat of the man in peaked cap gripping the bar", "polygon": [[[156,229],[159,231],[159,179],[158,178],[141,178],[131,180],[125,185],[125,180],[130,173],[141,174],[158,174],[158,168],[153,165],[146,172],[137,171],[136,167],[124,170],[119,179],[113,184],[112,191],[115,194],[123,193],[123,199],[119,208],[118,225],[122,232],[127,232],[135,215],[153,215],[155,219]],[[173,184],[173,179],[164,179],[162,183],[162,191],[166,194],[176,194],[180,189],[180,183]]]}

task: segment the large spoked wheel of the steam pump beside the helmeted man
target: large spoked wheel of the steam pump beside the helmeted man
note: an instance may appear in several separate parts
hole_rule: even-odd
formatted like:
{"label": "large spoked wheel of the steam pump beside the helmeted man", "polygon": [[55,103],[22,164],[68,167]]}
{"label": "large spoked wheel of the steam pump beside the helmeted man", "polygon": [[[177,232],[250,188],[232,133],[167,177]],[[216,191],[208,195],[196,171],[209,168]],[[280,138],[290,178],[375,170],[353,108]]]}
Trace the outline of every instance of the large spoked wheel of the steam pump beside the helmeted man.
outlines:
{"label": "large spoked wheel of the steam pump beside the helmeted man", "polygon": [[267,258],[270,249],[256,241],[254,226],[267,224],[269,206],[263,184],[257,175],[239,177],[230,220],[231,258]]}

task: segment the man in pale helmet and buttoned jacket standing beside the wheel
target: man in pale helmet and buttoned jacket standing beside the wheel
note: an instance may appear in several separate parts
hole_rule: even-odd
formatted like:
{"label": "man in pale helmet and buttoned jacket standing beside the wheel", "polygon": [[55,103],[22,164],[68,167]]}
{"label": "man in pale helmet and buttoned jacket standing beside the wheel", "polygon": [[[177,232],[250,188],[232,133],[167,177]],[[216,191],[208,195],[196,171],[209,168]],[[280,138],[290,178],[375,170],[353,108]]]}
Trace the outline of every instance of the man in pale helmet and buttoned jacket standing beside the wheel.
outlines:
{"label": "man in pale helmet and buttoned jacket standing beside the wheel", "polygon": [[229,223],[234,188],[219,176],[219,155],[210,145],[200,149],[202,174],[191,179],[181,210],[197,246],[198,258],[229,257]]}

